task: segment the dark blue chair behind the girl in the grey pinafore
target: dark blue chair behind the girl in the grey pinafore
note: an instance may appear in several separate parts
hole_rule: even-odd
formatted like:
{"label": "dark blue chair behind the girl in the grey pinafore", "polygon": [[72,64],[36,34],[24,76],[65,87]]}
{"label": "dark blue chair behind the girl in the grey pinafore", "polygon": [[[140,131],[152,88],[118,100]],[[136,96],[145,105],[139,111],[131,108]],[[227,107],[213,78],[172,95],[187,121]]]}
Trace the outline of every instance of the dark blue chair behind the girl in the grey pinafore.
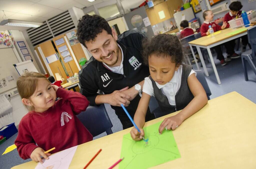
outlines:
{"label": "dark blue chair behind the girl in the grey pinafore", "polygon": [[[211,90],[208,86],[208,83],[205,79],[205,76],[204,76],[202,70],[195,70],[195,72],[197,74],[196,77],[197,77],[198,81],[202,84],[202,86],[205,89],[208,100],[210,100]],[[156,118],[162,117],[162,116],[165,116],[168,114],[168,113],[167,114],[162,113],[156,98],[153,96],[150,98],[148,106],[149,106],[151,114],[154,114]]]}

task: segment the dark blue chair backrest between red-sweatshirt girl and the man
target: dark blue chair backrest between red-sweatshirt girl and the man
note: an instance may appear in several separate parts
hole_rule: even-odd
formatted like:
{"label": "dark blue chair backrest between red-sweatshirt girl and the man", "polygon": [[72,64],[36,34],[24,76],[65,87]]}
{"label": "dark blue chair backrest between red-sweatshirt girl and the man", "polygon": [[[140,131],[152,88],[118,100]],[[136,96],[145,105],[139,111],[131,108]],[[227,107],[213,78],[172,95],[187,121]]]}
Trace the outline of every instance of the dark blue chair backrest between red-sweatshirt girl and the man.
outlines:
{"label": "dark blue chair backrest between red-sweatshirt girl and the man", "polygon": [[86,111],[77,115],[82,124],[90,131],[93,137],[106,131],[112,134],[113,127],[104,104],[100,106],[88,106]]}

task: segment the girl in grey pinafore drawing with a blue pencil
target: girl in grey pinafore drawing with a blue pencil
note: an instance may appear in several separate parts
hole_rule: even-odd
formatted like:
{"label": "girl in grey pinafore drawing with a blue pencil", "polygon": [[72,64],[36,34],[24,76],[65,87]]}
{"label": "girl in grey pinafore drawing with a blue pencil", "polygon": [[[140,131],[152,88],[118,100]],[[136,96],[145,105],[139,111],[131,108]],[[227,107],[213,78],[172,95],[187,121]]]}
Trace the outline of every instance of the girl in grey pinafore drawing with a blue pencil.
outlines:
{"label": "girl in grey pinafore drawing with a blue pencil", "polygon": [[142,127],[151,96],[155,96],[163,114],[182,110],[177,115],[165,118],[159,133],[167,128],[175,130],[182,122],[200,110],[208,102],[201,83],[192,66],[183,64],[183,49],[177,36],[159,34],[150,42],[143,42],[143,59],[149,66],[150,76],[145,78],[143,94],[134,115],[140,129],[132,128],[131,137],[138,141],[144,136]]}

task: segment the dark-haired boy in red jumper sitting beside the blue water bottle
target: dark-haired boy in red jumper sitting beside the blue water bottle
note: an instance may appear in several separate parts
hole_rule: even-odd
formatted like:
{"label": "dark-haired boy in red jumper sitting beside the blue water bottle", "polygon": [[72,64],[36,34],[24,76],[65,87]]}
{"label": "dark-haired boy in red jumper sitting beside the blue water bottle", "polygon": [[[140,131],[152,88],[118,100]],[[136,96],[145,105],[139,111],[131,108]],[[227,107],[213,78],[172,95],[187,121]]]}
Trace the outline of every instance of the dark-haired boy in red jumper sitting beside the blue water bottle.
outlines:
{"label": "dark-haired boy in red jumper sitting beside the blue water bottle", "polygon": [[[234,18],[241,17],[242,11],[240,9],[242,9],[243,5],[241,4],[241,2],[239,1],[234,1],[229,5],[229,12],[224,16],[224,21],[228,22]],[[229,23],[227,24],[226,28],[229,28],[230,25]],[[244,35],[241,37],[242,39],[242,49],[241,52],[246,51],[246,46],[248,44],[248,37],[247,35]],[[233,47],[235,46],[235,40],[230,41],[230,43],[233,45]],[[248,44],[250,47],[250,44]]]}

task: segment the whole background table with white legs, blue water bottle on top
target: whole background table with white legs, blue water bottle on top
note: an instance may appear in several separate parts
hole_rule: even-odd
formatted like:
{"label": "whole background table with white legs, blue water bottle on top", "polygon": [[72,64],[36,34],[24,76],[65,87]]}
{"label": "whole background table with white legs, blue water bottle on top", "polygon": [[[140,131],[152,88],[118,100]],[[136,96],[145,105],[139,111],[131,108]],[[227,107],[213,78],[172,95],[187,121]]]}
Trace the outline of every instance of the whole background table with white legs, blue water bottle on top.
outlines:
{"label": "whole background table with white legs, blue water bottle on top", "polygon": [[[214,46],[217,46],[217,45],[220,45],[220,44],[223,44],[225,42],[231,41],[233,39],[237,39],[239,37],[242,37],[243,35],[247,35],[247,29],[248,28],[250,28],[250,27],[247,27],[247,28],[241,27],[241,28],[237,28],[237,29],[227,28],[227,29],[223,29],[223,30],[214,32],[214,36],[215,36],[214,38],[211,38],[210,35],[208,35],[208,36],[204,36],[204,37],[201,37],[201,38],[198,38],[196,40],[188,42],[189,46],[190,46],[190,49],[191,49],[191,52],[192,52],[192,55],[195,59],[197,69],[199,70],[199,66],[198,66],[198,63],[196,61],[195,53],[192,49],[192,46],[196,46],[198,55],[200,57],[200,61],[201,61],[202,66],[204,68],[205,75],[209,76],[206,65],[205,65],[204,58],[203,58],[202,53],[200,51],[200,47],[207,49],[208,55],[210,57],[210,61],[211,61],[211,64],[212,64],[212,68],[214,70],[214,73],[215,73],[215,76],[216,76],[216,79],[217,79],[217,82],[218,82],[218,84],[221,84],[219,74],[218,74],[218,71],[216,69],[216,66],[215,66],[214,59],[212,57],[210,48],[212,48]],[[242,30],[242,31],[237,32],[239,30]]]}

